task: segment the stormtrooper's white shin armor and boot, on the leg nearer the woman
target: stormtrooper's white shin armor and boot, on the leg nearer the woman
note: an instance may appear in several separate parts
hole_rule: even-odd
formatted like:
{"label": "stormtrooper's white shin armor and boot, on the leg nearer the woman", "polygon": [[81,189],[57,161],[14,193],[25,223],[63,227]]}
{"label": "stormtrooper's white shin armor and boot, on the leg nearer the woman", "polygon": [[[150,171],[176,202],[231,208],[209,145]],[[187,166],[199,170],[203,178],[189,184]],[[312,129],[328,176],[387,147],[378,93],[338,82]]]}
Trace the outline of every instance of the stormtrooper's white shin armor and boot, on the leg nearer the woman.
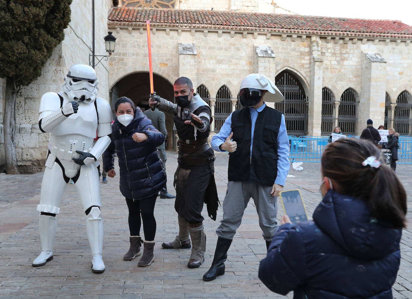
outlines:
{"label": "stormtrooper's white shin armor and boot, on the leg nearer the woman", "polygon": [[102,259],[103,252],[103,220],[98,207],[92,207],[86,216],[87,237],[89,238],[91,255],[91,271],[102,273],[105,265]]}

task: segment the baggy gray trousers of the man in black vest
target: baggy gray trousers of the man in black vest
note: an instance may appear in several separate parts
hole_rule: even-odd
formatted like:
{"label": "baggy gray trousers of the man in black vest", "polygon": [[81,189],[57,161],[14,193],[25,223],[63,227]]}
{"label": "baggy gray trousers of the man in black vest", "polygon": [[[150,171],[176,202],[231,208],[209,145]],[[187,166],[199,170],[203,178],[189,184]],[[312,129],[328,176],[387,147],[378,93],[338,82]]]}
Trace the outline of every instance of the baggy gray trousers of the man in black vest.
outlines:
{"label": "baggy gray trousers of the man in black vest", "polygon": [[276,214],[278,212],[277,197],[270,192],[272,186],[262,186],[249,182],[228,182],[225,200],[223,201],[223,219],[216,234],[225,239],[233,239],[236,229],[242,222],[243,213],[250,198],[253,199],[259,216],[259,226],[263,238],[272,241],[278,228]]}

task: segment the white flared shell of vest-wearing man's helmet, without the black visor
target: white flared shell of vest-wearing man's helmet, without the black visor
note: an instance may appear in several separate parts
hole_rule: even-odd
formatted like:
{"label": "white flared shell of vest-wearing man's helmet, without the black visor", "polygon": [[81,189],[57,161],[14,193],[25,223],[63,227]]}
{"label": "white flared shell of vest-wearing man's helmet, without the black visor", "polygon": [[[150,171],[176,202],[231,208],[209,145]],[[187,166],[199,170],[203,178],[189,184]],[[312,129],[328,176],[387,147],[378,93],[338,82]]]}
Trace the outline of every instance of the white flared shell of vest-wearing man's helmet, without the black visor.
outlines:
{"label": "white flared shell of vest-wearing man's helmet, without the black visor", "polygon": [[240,84],[240,89],[243,88],[254,88],[269,91],[263,96],[263,100],[265,102],[277,103],[284,100],[282,93],[279,91],[276,85],[265,75],[247,75]]}

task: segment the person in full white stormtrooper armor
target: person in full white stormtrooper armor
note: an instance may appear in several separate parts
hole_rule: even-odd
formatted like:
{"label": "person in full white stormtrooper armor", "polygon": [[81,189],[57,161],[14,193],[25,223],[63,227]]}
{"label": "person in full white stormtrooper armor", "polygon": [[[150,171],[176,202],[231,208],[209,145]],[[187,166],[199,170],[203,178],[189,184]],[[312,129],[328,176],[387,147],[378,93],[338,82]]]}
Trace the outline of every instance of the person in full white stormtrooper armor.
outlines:
{"label": "person in full white stormtrooper armor", "polygon": [[[64,189],[73,180],[86,213],[92,254],[92,271],[105,270],[102,259],[103,220],[97,159],[110,144],[112,113],[109,103],[97,98],[96,72],[88,65],[72,65],[59,93],[45,93],[40,100],[39,128],[50,133],[40,204],[39,230],[42,251],[33,261],[38,267],[53,259],[56,215]],[[101,137],[93,145],[93,139]]]}

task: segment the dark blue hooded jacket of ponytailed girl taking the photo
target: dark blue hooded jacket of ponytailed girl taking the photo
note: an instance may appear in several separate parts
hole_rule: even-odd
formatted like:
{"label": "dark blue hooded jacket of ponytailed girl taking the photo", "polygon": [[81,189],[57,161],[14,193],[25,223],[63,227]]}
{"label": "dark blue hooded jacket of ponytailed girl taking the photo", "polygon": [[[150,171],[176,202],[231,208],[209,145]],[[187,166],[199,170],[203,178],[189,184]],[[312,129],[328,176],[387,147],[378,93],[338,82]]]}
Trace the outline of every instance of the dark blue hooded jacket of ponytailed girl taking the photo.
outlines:
{"label": "dark blue hooded jacket of ponytailed girl taking the photo", "polygon": [[259,278],[294,299],[391,299],[401,234],[365,201],[328,190],[313,221],[279,227]]}

